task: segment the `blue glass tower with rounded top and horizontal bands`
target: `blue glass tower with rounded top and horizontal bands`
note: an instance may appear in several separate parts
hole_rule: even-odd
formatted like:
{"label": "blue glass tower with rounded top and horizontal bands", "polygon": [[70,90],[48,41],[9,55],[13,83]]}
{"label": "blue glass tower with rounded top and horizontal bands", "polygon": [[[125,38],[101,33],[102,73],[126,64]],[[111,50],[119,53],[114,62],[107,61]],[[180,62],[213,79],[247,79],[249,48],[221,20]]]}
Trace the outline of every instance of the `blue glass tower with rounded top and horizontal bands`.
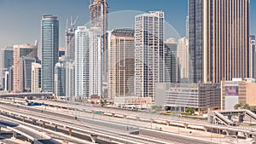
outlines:
{"label": "blue glass tower with rounded top and horizontal bands", "polygon": [[41,20],[42,39],[42,90],[54,92],[55,64],[59,60],[59,20],[45,14]]}

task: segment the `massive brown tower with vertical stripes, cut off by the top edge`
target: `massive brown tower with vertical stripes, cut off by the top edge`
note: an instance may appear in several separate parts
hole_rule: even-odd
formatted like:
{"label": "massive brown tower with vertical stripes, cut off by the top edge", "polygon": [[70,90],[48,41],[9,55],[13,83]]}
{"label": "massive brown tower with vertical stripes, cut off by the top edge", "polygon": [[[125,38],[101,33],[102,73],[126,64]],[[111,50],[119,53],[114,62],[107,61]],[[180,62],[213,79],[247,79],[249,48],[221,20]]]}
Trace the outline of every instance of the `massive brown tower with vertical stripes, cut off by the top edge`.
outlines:
{"label": "massive brown tower with vertical stripes, cut off by the top edge", "polygon": [[190,81],[249,76],[249,0],[189,0]]}

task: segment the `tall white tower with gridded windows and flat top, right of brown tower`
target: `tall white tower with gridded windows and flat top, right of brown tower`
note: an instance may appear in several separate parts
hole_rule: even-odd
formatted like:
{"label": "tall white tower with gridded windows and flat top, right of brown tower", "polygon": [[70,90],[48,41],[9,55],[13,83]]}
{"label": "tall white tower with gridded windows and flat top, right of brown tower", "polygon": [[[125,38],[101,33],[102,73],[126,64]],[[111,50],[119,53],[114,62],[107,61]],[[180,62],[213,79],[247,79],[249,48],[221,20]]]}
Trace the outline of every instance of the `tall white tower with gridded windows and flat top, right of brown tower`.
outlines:
{"label": "tall white tower with gridded windows and flat top, right of brown tower", "polygon": [[135,17],[135,95],[155,98],[156,83],[165,81],[164,13]]}

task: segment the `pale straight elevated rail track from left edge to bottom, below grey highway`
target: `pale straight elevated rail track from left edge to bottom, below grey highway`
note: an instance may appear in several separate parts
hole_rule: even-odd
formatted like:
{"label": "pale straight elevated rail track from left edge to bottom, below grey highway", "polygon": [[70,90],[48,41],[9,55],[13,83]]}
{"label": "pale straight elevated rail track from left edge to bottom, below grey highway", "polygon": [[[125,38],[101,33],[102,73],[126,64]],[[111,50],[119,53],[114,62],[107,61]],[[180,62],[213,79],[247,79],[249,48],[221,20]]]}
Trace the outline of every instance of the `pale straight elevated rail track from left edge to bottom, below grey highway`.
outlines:
{"label": "pale straight elevated rail track from left edge to bottom, below grey highway", "polygon": [[[100,133],[102,135],[112,135],[114,137],[119,137],[121,139],[125,139],[125,140],[129,140],[129,141],[134,141],[134,143],[166,143],[166,142],[160,142],[160,141],[156,141],[156,140],[153,140],[153,139],[149,139],[149,138],[143,138],[141,136],[137,136],[137,135],[128,135],[128,134],[125,134],[125,133],[121,133],[121,132],[116,132],[114,130],[95,130],[95,127],[94,128],[91,128],[90,126],[88,125],[84,125],[84,124],[76,124],[78,123],[79,121],[78,120],[75,120],[75,119],[68,119],[68,122],[63,120],[63,119],[60,119],[59,117],[56,117],[54,115],[49,115],[47,113],[44,113],[44,112],[32,112],[30,110],[26,110],[26,109],[20,109],[20,107],[13,107],[13,106],[7,106],[5,105],[4,107],[3,106],[0,106],[0,109],[1,109],[1,112],[9,112],[10,109],[11,109],[11,113],[13,114],[16,114],[16,115],[19,115],[20,117],[35,117],[35,118],[40,118],[41,121],[43,122],[49,122],[49,119],[50,121],[52,121],[52,123],[60,123],[60,124],[65,124],[67,125],[67,128],[68,127],[76,127],[76,128],[79,128],[79,129],[82,129],[82,130],[87,130],[87,131],[94,131],[96,133]],[[22,110],[22,111],[20,111]],[[71,122],[73,123],[72,125]],[[93,130],[92,130],[93,129]],[[77,130],[79,131],[79,130]]]}

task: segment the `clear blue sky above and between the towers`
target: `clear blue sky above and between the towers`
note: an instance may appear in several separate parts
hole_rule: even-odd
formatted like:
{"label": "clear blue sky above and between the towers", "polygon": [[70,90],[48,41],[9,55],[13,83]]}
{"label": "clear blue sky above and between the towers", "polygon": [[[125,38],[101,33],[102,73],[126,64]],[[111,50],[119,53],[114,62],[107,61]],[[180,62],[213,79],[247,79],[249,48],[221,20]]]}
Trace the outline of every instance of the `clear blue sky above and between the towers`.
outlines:
{"label": "clear blue sky above and between the towers", "polygon": [[[0,47],[40,40],[42,14],[55,14],[59,17],[60,47],[64,47],[67,18],[79,15],[77,26],[88,23],[89,3],[90,0],[0,0]],[[172,29],[170,32],[174,32],[170,36],[185,35],[187,0],[108,0],[108,7],[110,28],[131,27],[133,14],[162,10],[165,12],[166,23]],[[251,0],[250,18],[251,33],[256,34],[256,0]]]}

